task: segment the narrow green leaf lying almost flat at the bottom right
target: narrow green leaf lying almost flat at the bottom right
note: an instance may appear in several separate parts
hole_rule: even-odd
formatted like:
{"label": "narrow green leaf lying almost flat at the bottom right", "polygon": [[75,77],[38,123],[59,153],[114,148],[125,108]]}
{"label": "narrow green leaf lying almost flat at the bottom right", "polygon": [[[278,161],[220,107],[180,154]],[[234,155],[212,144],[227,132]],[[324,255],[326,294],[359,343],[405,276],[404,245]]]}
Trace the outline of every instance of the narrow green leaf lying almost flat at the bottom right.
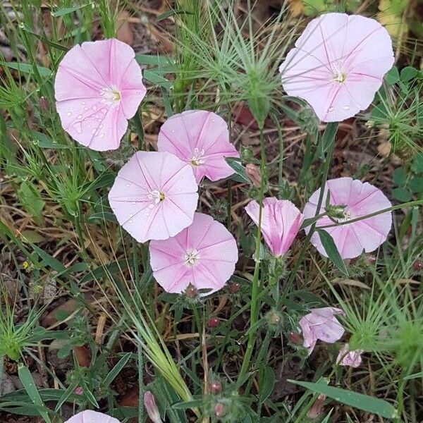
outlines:
{"label": "narrow green leaf lying almost flat at the bottom right", "polygon": [[346,389],[336,388],[335,386],[328,386],[323,383],[293,381],[290,379],[288,379],[288,382],[302,386],[303,388],[309,389],[313,392],[323,393],[327,397],[338,401],[338,403],[350,405],[351,407],[371,412],[375,415],[385,417],[386,419],[394,419],[398,415],[395,407],[387,401],[364,395],[363,393],[348,391]]}

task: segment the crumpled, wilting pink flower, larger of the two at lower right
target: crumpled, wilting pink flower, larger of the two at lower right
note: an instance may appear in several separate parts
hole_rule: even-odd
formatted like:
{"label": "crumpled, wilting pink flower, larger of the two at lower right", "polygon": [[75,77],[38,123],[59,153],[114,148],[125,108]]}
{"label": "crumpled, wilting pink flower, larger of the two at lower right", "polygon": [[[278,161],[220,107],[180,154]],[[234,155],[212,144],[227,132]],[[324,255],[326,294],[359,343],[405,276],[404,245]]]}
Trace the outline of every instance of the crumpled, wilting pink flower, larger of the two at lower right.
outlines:
{"label": "crumpled, wilting pink flower, larger of the two at lower right", "polygon": [[310,313],[300,319],[304,346],[309,355],[314,350],[317,340],[334,343],[343,336],[343,326],[336,319],[336,314],[345,314],[341,309],[323,307],[310,309]]}

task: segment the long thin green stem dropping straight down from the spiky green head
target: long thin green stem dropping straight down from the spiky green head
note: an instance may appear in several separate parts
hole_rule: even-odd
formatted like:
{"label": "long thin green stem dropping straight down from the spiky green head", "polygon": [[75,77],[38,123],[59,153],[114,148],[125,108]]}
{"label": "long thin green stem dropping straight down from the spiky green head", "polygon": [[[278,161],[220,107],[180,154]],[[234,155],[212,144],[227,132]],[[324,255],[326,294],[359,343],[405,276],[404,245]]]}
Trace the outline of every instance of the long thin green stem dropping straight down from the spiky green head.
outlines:
{"label": "long thin green stem dropping straight down from the spiky green head", "polygon": [[250,333],[248,334],[247,349],[245,350],[243,364],[240,369],[238,376],[238,383],[242,384],[243,378],[250,367],[250,360],[252,355],[252,349],[254,348],[256,333],[252,330],[258,319],[259,310],[259,273],[260,273],[260,240],[262,238],[262,209],[263,209],[263,198],[264,188],[266,186],[266,148],[264,146],[264,122],[259,124],[260,128],[260,147],[261,147],[261,161],[260,161],[260,173],[262,176],[262,183],[260,184],[259,191],[259,221],[257,225],[257,239],[255,249],[255,268],[254,275],[252,278],[252,292],[251,292],[251,308],[250,308]]}

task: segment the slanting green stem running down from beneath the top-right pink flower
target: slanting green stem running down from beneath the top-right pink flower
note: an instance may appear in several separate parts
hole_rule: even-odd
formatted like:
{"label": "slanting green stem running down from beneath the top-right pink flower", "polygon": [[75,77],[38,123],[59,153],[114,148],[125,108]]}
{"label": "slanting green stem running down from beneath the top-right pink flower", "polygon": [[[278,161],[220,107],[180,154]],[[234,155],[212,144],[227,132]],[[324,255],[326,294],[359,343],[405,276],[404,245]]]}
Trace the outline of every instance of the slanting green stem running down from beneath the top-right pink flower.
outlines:
{"label": "slanting green stem running down from beneath the top-right pink flower", "polygon": [[[333,133],[333,137],[331,137],[331,139],[329,140],[329,143],[328,143],[329,145],[327,147],[327,154],[326,154],[326,157],[324,159],[323,175],[322,175],[322,180],[321,180],[321,185],[320,185],[320,195],[319,195],[319,201],[317,202],[315,216],[317,216],[319,214],[320,209],[321,209],[321,204],[323,203],[324,188],[326,187],[326,180],[327,180],[328,175],[329,175],[329,167],[331,166],[333,150],[335,149],[336,127],[333,128],[335,125],[338,125],[338,123],[337,122],[328,123],[328,125],[326,126],[326,130],[325,130],[325,133],[326,133],[326,131],[327,131],[327,133]],[[324,135],[323,135],[323,138],[324,138]],[[298,269],[300,268],[300,265],[302,263],[302,259],[304,258],[305,252],[306,252],[307,247],[309,245],[309,241],[312,238],[312,235],[314,233],[314,229],[316,228],[316,223],[317,223],[317,221],[312,223],[312,227],[310,228],[309,233],[307,233],[307,236],[305,237],[305,240],[302,243],[300,253],[299,253],[297,259],[295,259],[294,268],[290,273],[290,277],[288,279],[288,282],[286,283],[285,288],[283,289],[284,295],[288,294],[289,291],[290,291],[290,288],[293,286],[295,276],[297,276]]]}

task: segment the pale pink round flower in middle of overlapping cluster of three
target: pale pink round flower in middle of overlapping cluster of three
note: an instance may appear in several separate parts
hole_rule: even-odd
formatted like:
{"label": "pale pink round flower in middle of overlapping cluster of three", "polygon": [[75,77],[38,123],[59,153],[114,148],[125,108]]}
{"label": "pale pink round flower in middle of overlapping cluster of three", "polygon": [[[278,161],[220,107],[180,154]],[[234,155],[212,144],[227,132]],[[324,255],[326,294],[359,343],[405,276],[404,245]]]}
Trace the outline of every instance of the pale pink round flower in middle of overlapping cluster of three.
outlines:
{"label": "pale pink round flower in middle of overlapping cluster of three", "polygon": [[165,240],[190,226],[197,208],[190,165],[170,153],[137,152],[109,192],[118,222],[140,243]]}

